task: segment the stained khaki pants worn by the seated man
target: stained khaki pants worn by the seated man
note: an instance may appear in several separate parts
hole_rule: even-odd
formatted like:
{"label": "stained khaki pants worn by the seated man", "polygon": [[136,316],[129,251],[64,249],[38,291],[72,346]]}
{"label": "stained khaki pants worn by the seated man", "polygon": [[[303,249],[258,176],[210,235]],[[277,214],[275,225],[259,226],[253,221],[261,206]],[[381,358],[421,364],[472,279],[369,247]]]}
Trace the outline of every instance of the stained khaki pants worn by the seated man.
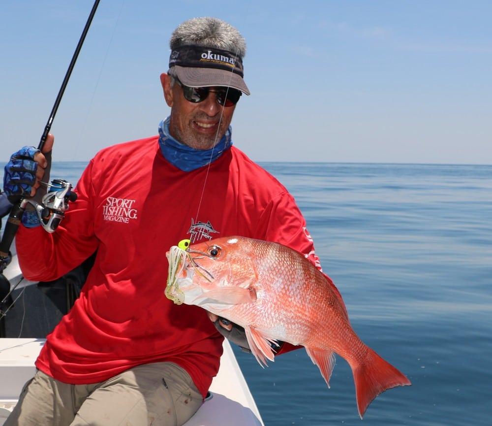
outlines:
{"label": "stained khaki pants worn by the seated man", "polygon": [[4,426],[180,426],[202,402],[188,373],[171,362],[139,365],[91,385],[38,371]]}

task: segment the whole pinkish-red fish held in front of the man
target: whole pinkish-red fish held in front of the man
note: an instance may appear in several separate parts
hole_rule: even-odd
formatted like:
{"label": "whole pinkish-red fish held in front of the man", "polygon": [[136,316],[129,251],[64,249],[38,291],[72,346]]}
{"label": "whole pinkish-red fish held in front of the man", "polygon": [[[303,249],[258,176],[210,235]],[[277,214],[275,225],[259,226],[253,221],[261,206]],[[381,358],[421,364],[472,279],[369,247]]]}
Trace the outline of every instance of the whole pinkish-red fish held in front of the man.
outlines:
{"label": "whole pinkish-red fish held in front of the man", "polygon": [[304,346],[330,388],[336,354],[350,365],[362,419],[380,393],[411,382],[362,342],[333,281],[285,245],[229,236],[172,246],[165,295],[245,329],[260,365],[278,342]]}

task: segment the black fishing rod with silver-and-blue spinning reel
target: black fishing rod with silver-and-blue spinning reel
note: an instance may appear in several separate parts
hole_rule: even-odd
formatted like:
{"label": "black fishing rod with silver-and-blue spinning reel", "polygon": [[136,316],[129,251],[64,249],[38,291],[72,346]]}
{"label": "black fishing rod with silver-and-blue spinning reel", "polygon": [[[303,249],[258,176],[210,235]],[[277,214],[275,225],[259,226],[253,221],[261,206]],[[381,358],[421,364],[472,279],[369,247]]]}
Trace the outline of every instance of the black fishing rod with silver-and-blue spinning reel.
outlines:
{"label": "black fishing rod with silver-and-blue spinning reel", "polygon": [[[94,1],[91,13],[89,14],[89,18],[86,21],[86,25],[84,27],[84,30],[82,31],[82,35],[79,38],[79,42],[77,43],[75,52],[73,53],[70,64],[68,65],[68,69],[62,81],[62,86],[60,87],[58,96],[55,99],[53,109],[51,110],[51,114],[48,118],[48,121],[46,122],[46,126],[37,147],[40,151],[43,150],[44,144],[51,130],[51,126],[58,111],[58,107],[60,106],[60,103],[62,101],[63,93],[65,92],[68,80],[70,79],[70,75],[75,66],[75,63],[77,62],[77,58],[79,56],[80,50],[82,49],[82,45],[84,44],[84,40],[89,31],[89,27],[91,26],[92,18],[95,15],[95,11],[97,9],[97,6],[99,5],[99,1],[100,0]],[[49,192],[43,197],[41,203],[37,203],[33,200],[28,200],[27,198],[21,197],[18,202],[14,203],[10,210],[10,214],[7,219],[7,223],[5,224],[5,229],[0,241],[0,274],[10,261],[10,247],[14,240],[15,234],[17,233],[17,229],[19,229],[22,215],[24,214],[28,203],[31,203],[31,205],[34,206],[43,228],[46,229],[48,232],[54,232],[64,217],[64,211],[68,208],[68,201],[75,201],[75,199],[77,198],[76,194],[70,191],[72,187],[71,184],[63,179],[54,179],[51,184],[44,183],[44,185],[48,187]],[[3,276],[3,274],[1,275]],[[5,296],[0,295],[0,314],[3,314],[3,316],[5,312],[1,310],[1,304],[8,299],[8,297],[12,293],[12,290]],[[8,309],[9,308],[10,306],[8,307]],[[2,315],[0,315],[0,319],[1,318]]]}

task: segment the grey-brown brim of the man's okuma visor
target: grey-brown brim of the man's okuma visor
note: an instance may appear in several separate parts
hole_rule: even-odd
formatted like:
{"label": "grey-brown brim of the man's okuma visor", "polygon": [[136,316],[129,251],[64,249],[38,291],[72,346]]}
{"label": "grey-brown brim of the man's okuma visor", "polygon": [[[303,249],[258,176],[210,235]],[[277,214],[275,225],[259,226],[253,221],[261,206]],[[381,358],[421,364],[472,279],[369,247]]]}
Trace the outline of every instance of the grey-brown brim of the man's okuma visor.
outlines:
{"label": "grey-brown brim of the man's okuma visor", "polygon": [[210,87],[224,86],[232,87],[249,95],[249,89],[243,78],[232,71],[217,68],[196,68],[192,66],[174,66],[179,80],[185,86]]}

